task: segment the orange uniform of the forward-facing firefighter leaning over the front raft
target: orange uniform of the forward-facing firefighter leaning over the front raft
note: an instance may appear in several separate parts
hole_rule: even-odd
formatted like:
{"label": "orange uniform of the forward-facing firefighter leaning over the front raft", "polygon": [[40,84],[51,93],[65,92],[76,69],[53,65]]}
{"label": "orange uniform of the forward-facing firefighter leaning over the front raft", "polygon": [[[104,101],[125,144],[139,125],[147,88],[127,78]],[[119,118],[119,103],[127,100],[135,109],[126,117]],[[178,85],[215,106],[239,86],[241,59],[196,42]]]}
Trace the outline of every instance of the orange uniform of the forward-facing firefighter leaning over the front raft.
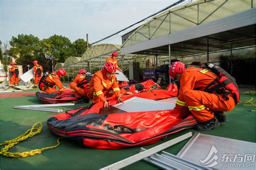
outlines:
{"label": "orange uniform of the forward-facing firefighter leaning over the front raft", "polygon": [[96,72],[87,84],[87,97],[93,100],[93,103],[99,101],[105,102],[106,97],[121,97],[116,75],[113,74],[111,80],[107,79],[103,74],[103,70]]}

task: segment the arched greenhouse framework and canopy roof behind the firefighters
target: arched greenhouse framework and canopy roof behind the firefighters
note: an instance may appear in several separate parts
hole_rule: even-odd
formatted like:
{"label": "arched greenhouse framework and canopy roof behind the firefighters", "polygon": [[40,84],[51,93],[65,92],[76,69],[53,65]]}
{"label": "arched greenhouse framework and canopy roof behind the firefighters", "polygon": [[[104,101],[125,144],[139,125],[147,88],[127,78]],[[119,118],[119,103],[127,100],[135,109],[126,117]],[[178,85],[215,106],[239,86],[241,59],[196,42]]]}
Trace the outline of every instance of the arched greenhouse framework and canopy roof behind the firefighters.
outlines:
{"label": "arched greenhouse framework and canopy roof behind the firefighters", "polygon": [[[66,59],[63,67],[69,75],[85,68],[92,74],[100,70],[113,51],[119,53],[118,64],[124,71],[139,62],[153,59],[155,66],[180,60],[220,62],[225,55],[234,60],[255,59],[256,1],[196,1],[164,11],[130,33],[123,45],[93,45],[81,58]],[[247,49],[254,55],[235,55]],[[246,53],[247,51],[242,53]],[[61,65],[56,64],[55,68]]]}

